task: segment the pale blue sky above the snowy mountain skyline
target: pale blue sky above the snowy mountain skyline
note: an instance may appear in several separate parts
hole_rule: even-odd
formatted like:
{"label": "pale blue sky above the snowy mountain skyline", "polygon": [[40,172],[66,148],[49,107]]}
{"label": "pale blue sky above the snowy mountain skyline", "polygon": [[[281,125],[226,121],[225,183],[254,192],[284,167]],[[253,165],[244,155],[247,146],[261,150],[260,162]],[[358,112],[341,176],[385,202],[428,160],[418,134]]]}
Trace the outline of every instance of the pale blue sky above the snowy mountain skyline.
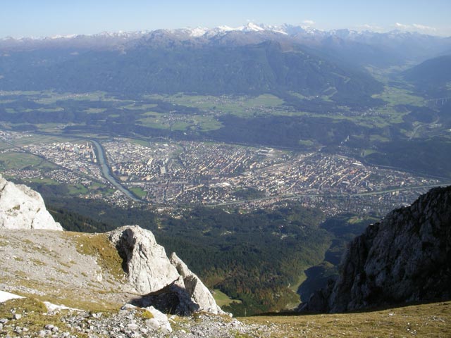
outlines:
{"label": "pale blue sky above the snowy mountain skyline", "polygon": [[451,0],[0,0],[0,38],[308,25],[451,36]]}

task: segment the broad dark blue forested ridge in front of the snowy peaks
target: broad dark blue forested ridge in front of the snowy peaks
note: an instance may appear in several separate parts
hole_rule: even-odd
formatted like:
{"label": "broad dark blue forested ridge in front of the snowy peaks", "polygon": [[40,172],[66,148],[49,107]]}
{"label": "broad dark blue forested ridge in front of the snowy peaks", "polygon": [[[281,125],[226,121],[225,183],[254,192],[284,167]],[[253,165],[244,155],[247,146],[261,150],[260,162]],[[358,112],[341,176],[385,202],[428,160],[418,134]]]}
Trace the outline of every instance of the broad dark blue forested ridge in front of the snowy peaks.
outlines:
{"label": "broad dark blue forested ridge in front of the snowy peaks", "polygon": [[[247,33],[237,38],[242,37]],[[245,45],[197,45],[154,32],[123,49],[11,51],[0,56],[0,85],[4,90],[134,95],[297,92],[336,95],[338,101],[351,92],[357,101],[371,101],[371,94],[382,90],[364,70],[342,67],[302,46],[253,37]]]}

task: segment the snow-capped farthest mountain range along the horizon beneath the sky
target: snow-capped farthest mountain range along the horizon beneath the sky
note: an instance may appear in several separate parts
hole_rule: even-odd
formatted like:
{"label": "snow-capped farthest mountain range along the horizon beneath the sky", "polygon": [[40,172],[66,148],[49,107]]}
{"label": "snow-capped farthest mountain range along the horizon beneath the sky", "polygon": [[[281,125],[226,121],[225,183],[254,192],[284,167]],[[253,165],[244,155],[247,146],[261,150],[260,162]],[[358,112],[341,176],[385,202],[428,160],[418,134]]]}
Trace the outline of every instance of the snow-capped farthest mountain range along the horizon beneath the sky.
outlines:
{"label": "snow-capped farthest mountain range along the horizon beneath the sky", "polygon": [[[439,54],[451,53],[451,37],[421,35],[416,32],[393,30],[379,33],[355,30],[316,30],[307,26],[295,25],[256,25],[248,23],[240,27],[219,26],[214,28],[196,27],[176,30],[154,30],[138,32],[101,32],[95,35],[68,35],[54,37],[23,37],[0,39],[0,50],[27,50],[35,48],[80,49],[128,49],[136,44],[160,43],[199,46],[247,45],[276,40],[285,44],[302,44],[314,49],[343,49],[342,54],[349,56],[352,48],[358,56],[382,52],[394,57],[391,62],[424,61]],[[347,53],[348,51],[348,53]],[[340,54],[341,55],[341,54]],[[379,57],[381,55],[378,55]],[[369,56],[367,55],[366,58]],[[385,57],[383,57],[385,58]],[[373,57],[373,61],[376,58]],[[362,60],[365,62],[365,59]],[[381,61],[380,61],[381,62]]]}

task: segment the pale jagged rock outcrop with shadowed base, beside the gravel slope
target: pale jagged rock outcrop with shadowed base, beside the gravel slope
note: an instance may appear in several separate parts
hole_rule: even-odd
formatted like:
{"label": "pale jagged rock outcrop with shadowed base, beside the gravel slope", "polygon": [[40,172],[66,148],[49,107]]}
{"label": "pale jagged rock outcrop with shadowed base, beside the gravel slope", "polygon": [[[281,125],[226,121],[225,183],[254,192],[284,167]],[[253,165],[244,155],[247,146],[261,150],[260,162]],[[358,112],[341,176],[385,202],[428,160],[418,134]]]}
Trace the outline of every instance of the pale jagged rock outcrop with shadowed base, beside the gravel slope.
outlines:
{"label": "pale jagged rock outcrop with shadowed base, beside the gravel slope", "polygon": [[109,233],[109,239],[123,258],[128,281],[141,295],[135,305],[181,315],[194,311],[223,313],[209,289],[175,253],[169,260],[149,230],[137,225],[120,227]]}

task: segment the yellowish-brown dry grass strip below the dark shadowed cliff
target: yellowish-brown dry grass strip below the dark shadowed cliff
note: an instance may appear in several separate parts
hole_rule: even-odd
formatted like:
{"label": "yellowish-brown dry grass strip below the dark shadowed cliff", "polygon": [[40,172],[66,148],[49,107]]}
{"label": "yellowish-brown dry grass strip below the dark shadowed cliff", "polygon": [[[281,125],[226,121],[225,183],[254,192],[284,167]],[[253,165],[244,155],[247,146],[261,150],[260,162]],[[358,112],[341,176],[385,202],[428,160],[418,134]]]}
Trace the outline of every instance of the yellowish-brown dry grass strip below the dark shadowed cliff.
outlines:
{"label": "yellowish-brown dry grass strip below the dark shadowed cliff", "polygon": [[240,318],[271,326],[271,337],[451,337],[451,302],[382,311]]}

